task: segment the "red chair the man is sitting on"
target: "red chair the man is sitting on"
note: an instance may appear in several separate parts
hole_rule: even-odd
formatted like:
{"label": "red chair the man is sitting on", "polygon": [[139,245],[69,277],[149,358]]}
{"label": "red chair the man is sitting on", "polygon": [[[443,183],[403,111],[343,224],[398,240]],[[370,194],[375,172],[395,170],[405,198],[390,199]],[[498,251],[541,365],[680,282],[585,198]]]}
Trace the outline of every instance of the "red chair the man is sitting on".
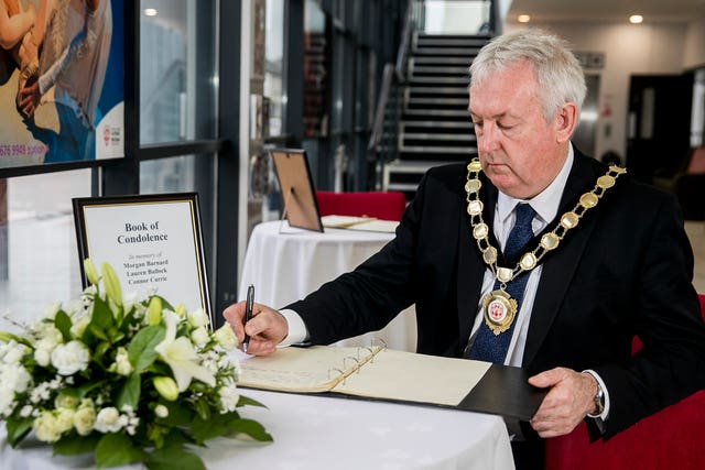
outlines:
{"label": "red chair the man is sitting on", "polygon": [[[705,318],[705,294],[699,294]],[[641,342],[634,341],[634,349]],[[546,439],[546,470],[705,469],[705,390],[681,400],[607,441],[589,441],[583,422],[573,433]]]}

